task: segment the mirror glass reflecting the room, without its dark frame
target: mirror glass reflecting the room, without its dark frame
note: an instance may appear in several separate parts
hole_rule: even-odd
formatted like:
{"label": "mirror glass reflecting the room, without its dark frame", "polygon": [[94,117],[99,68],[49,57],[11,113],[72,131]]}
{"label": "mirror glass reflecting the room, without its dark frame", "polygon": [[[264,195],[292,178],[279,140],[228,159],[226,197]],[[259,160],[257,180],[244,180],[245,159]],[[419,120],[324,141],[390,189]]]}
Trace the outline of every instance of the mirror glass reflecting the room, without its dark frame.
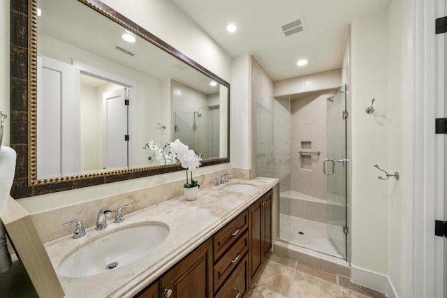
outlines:
{"label": "mirror glass reflecting the room, without its dark frame", "polygon": [[38,6],[37,179],[163,165],[149,141],[228,156],[226,87],[78,1]]}

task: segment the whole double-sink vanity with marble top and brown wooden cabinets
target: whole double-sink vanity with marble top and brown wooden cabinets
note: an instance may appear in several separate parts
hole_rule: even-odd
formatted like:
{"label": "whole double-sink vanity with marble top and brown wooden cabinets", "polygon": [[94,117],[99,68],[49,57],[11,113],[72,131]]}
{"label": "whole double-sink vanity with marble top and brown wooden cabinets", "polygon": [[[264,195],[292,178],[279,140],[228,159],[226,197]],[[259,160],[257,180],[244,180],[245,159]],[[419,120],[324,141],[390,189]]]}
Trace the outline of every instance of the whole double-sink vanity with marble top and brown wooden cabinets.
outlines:
{"label": "whole double-sink vanity with marble top and brown wooden cabinets", "polygon": [[45,249],[66,297],[243,297],[272,247],[276,184],[231,179]]}

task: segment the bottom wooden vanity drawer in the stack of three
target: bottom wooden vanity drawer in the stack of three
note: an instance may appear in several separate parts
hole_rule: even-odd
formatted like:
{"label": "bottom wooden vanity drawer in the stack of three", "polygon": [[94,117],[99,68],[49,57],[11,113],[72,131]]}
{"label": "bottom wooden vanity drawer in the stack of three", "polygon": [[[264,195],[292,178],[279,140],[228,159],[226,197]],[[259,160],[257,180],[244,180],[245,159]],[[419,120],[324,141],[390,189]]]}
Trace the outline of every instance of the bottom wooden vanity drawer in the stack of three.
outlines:
{"label": "bottom wooden vanity drawer in the stack of three", "polygon": [[242,298],[248,290],[248,258],[247,254],[237,265],[233,274],[223,284],[221,290],[217,293],[216,298]]}

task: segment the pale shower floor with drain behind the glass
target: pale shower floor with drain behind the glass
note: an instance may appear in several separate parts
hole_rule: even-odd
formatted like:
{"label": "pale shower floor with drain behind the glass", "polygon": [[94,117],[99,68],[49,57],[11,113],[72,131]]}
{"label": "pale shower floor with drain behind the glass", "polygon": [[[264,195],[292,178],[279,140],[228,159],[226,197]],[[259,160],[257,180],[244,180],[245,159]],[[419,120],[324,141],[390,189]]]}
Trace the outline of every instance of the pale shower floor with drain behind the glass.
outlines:
{"label": "pale shower floor with drain behind the glass", "polygon": [[[301,233],[300,233],[301,232]],[[332,241],[330,241],[326,224],[309,221],[305,218],[280,214],[279,238],[291,244],[343,258]]]}

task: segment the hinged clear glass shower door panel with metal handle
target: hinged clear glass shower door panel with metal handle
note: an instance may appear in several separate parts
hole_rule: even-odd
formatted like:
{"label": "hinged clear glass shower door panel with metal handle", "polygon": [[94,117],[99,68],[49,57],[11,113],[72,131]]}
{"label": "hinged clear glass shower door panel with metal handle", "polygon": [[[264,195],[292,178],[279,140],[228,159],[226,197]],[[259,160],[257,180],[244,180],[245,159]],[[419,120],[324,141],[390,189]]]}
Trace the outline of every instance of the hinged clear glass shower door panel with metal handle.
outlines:
{"label": "hinged clear glass shower door panel with metal handle", "polygon": [[330,240],[346,260],[346,85],[326,100],[326,223]]}

